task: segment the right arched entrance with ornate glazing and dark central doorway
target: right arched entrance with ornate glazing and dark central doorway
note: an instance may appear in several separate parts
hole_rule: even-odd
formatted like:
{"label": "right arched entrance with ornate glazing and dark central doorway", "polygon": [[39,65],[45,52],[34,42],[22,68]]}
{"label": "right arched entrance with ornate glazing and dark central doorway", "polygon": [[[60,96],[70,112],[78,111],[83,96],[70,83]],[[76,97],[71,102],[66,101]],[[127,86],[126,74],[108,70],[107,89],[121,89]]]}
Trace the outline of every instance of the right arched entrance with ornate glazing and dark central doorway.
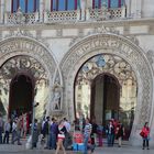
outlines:
{"label": "right arched entrance with ornate glazing and dark central doorway", "polygon": [[138,84],[132,67],[121,57],[99,54],[79,68],[75,79],[76,118],[96,118],[99,124],[116,119],[130,136],[136,107]]}

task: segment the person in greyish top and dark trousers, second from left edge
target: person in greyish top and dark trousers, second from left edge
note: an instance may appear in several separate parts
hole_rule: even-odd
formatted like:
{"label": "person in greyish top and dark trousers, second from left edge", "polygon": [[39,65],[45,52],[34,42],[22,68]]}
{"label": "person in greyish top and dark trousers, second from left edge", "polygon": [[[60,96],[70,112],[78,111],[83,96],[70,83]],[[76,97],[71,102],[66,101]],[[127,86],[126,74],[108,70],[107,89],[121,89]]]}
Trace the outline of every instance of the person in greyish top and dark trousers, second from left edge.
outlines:
{"label": "person in greyish top and dark trousers, second from left edge", "polygon": [[3,144],[6,143],[6,140],[7,140],[7,144],[9,144],[9,134],[10,134],[10,130],[11,130],[10,121],[11,121],[11,120],[8,119],[8,121],[4,123]]}

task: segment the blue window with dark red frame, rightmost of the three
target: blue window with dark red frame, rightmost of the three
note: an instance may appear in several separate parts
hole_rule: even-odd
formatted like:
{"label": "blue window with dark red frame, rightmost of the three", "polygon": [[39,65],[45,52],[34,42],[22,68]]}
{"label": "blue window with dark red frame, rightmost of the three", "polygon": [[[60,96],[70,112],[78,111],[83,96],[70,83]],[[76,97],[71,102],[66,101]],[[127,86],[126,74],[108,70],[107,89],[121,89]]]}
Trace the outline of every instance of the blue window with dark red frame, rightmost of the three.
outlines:
{"label": "blue window with dark red frame, rightmost of the three", "polygon": [[124,0],[92,0],[92,8],[100,9],[106,4],[107,8],[121,8],[124,4]]}

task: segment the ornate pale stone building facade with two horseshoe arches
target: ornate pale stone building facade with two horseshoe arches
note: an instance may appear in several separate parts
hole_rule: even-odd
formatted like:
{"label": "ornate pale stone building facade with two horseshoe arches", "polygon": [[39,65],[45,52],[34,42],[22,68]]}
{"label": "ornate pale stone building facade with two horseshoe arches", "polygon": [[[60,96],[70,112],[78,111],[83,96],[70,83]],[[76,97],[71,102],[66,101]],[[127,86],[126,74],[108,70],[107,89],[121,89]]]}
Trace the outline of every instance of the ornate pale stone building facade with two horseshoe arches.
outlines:
{"label": "ornate pale stone building facade with two horseshoe arches", "polygon": [[[152,0],[0,0],[0,112],[154,130]],[[152,144],[154,133],[152,131]],[[136,142],[138,141],[138,142]]]}

